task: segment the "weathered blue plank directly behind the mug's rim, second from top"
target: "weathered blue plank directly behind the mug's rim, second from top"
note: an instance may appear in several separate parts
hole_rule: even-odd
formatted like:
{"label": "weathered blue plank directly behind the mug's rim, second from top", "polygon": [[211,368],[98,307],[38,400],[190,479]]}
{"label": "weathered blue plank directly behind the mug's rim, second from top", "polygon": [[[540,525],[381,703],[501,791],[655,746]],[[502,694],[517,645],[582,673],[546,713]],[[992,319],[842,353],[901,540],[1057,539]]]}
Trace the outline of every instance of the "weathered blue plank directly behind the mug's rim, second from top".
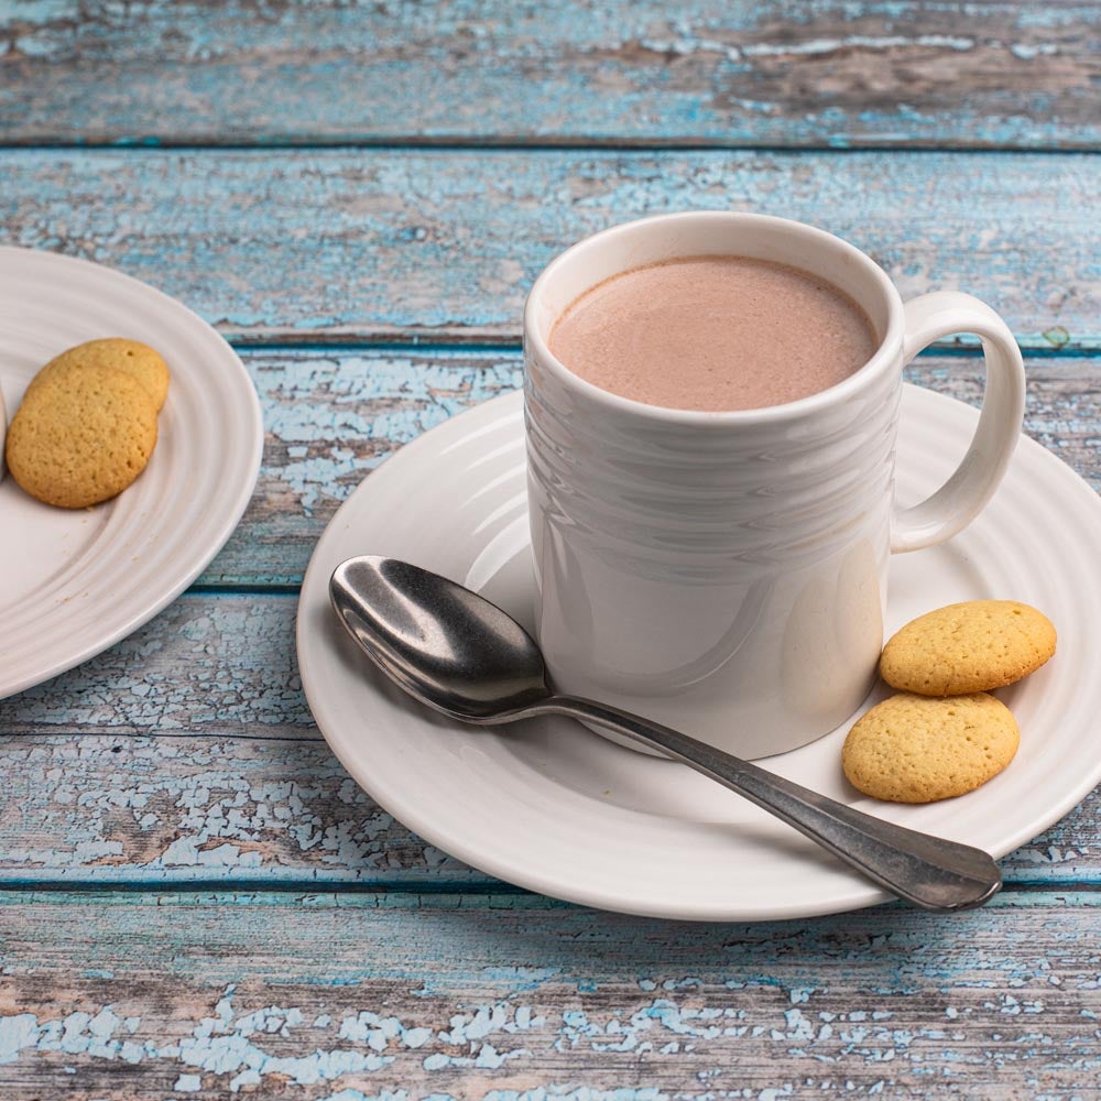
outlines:
{"label": "weathered blue plank directly behind the mug's rim, second from top", "polygon": [[23,150],[0,171],[0,240],[120,268],[240,339],[514,344],[566,244],[723,207],[821,225],[905,296],[964,287],[1028,346],[1101,345],[1088,155]]}

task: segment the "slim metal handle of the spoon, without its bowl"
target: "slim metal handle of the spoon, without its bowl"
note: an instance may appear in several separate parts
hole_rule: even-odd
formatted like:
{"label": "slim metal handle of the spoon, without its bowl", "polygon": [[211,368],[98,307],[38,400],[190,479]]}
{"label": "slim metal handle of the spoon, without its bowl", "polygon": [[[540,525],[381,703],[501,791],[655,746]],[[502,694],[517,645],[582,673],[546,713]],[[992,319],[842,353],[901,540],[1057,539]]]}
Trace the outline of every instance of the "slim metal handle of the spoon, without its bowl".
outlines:
{"label": "slim metal handle of the spoon, without its bowl", "polygon": [[533,710],[595,722],[661,750],[774,814],[923,909],[981,906],[1002,885],[998,865],[981,849],[865,815],[628,711],[575,696],[553,696]]}

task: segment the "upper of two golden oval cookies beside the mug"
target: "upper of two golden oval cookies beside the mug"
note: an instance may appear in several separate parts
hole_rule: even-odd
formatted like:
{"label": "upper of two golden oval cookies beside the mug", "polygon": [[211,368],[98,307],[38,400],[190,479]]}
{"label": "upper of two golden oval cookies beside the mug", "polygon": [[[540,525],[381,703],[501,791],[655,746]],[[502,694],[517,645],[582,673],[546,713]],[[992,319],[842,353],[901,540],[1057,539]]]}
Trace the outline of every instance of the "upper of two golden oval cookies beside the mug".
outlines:
{"label": "upper of two golden oval cookies beside the mug", "polygon": [[989,691],[1035,673],[1055,653],[1055,628],[1015,600],[969,600],[919,615],[880,657],[892,688],[922,696]]}

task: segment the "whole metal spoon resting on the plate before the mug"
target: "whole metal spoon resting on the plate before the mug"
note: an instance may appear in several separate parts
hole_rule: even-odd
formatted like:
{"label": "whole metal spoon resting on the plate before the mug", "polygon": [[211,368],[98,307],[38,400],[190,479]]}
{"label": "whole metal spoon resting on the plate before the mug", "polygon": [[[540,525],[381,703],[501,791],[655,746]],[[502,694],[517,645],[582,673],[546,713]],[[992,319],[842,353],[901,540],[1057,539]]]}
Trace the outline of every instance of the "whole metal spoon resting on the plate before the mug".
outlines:
{"label": "whole metal spoon resting on the plate before the mug", "polygon": [[495,604],[437,574],[364,555],[336,568],[329,595],[368,656],[411,696],[454,719],[492,726],[567,715],[607,727],[743,795],[924,909],[981,906],[1002,885],[981,849],[861,814],[626,711],[555,695],[531,635]]}

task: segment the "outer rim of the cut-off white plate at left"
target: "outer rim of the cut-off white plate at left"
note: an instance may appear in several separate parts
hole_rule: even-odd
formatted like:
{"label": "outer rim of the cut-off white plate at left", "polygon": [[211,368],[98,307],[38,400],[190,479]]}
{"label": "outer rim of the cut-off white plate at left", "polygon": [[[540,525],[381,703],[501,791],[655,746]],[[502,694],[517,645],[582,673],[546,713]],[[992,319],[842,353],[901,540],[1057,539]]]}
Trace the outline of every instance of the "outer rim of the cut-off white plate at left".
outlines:
{"label": "outer rim of the cut-off white plate at left", "polygon": [[[59,676],[62,673],[83,665],[97,654],[101,654],[105,650],[113,646],[117,642],[133,634],[134,631],[148,623],[154,615],[163,611],[179,597],[203,570],[210,565],[237,530],[241,516],[252,500],[252,494],[260,477],[260,468],[263,462],[264,447],[263,410],[260,405],[260,395],[257,393],[255,384],[252,382],[248,368],[246,368],[240,356],[229,341],[212,325],[195,313],[194,309],[178,298],[161,291],[159,287],[108,264],[86,260],[81,257],[69,257],[59,252],[51,252],[45,249],[0,244],[0,265],[9,261],[20,263],[28,260],[33,263],[78,270],[84,276],[91,275],[96,279],[102,279],[106,275],[108,279],[117,281],[118,285],[122,287],[129,287],[131,291],[135,290],[142,295],[152,295],[155,299],[160,299],[162,306],[181,316],[188,326],[198,326],[205,330],[205,336],[208,339],[212,339],[219,352],[225,356],[226,368],[235,372],[237,381],[242,383],[240,388],[242,397],[247,397],[249,401],[247,403],[242,402],[239,410],[246,413],[248,422],[247,430],[251,438],[242,438],[241,440],[242,453],[248,454],[248,462],[247,465],[242,465],[240,484],[236,493],[227,501],[220,523],[216,525],[201,546],[187,555],[184,567],[170,574],[172,578],[171,582],[163,589],[156,590],[156,595],[152,598],[138,602],[134,610],[123,621],[105,634],[97,635],[95,641],[89,641],[83,646],[67,652],[64,657],[58,657],[18,680],[4,682],[0,678],[0,700],[37,687]],[[9,411],[9,417],[12,412]]]}

